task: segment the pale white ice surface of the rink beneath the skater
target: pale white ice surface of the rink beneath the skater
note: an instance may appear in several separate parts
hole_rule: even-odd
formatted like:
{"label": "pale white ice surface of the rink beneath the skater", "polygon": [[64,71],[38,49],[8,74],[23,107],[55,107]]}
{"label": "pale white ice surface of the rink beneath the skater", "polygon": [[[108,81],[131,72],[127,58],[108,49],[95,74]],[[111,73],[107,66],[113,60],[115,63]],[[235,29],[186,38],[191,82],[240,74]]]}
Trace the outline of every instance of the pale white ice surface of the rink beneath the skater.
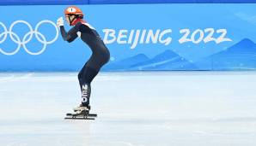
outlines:
{"label": "pale white ice surface of the rink beneath the skater", "polygon": [[76,73],[0,73],[2,146],[256,145],[256,72],[100,73],[94,121],[64,120]]}

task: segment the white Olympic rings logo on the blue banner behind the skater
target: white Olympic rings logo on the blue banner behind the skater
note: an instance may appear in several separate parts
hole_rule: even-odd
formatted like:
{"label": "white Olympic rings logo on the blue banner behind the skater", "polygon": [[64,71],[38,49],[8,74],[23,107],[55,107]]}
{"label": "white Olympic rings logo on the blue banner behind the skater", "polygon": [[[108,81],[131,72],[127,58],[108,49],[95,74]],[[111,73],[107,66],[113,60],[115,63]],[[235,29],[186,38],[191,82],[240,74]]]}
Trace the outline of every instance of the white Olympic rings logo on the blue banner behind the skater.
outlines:
{"label": "white Olympic rings logo on the blue banner behind the skater", "polygon": [[[13,27],[18,24],[18,23],[23,23],[25,25],[27,25],[28,29],[29,29],[29,32],[27,32],[24,37],[21,39],[15,32],[12,32],[13,30]],[[54,26],[55,30],[56,30],[56,35],[55,35],[55,38],[53,38],[52,40],[50,41],[47,41],[46,40],[46,37],[41,33],[41,32],[38,32],[39,30],[39,27],[44,24],[44,23],[49,23],[49,24],[52,24],[52,26]],[[40,55],[42,54],[45,50],[46,50],[46,46],[47,44],[52,44],[54,43],[57,39],[58,39],[58,26],[55,25],[55,23],[53,23],[51,20],[41,20],[36,26],[35,28],[33,29],[32,26],[27,23],[27,21],[25,20],[16,20],[14,21],[10,27],[9,27],[9,30],[6,28],[6,26],[0,22],[0,26],[3,27],[3,31],[2,33],[0,33],[0,44],[3,44],[3,42],[6,40],[8,34],[9,34],[9,37],[10,39],[15,43],[17,44],[17,48],[12,51],[12,52],[8,52],[8,51],[4,51],[2,48],[0,48],[0,52],[3,54],[3,55],[15,55],[20,49],[21,49],[21,46],[23,47],[24,50],[26,50],[26,52],[30,55]],[[41,43],[43,44],[43,47],[41,48],[41,50],[37,51],[37,52],[33,52],[31,50],[28,50],[27,49],[27,46],[26,44],[31,41],[31,39],[33,38],[33,36],[35,36],[35,38]],[[2,39],[1,39],[2,38]]]}

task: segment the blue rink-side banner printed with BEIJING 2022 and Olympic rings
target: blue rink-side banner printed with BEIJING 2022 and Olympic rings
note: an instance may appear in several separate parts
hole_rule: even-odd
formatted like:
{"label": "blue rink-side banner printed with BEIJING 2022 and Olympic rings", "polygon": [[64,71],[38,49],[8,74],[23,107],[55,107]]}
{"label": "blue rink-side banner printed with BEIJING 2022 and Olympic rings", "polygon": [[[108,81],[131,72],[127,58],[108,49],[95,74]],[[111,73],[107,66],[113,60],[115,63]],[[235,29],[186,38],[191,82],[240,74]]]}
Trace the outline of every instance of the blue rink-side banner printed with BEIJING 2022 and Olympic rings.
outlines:
{"label": "blue rink-side banner printed with BEIJING 2022 and Olympic rings", "polygon": [[[104,71],[254,70],[255,6],[78,5],[110,50]],[[66,7],[1,6],[0,71],[79,70],[91,51],[61,38]]]}

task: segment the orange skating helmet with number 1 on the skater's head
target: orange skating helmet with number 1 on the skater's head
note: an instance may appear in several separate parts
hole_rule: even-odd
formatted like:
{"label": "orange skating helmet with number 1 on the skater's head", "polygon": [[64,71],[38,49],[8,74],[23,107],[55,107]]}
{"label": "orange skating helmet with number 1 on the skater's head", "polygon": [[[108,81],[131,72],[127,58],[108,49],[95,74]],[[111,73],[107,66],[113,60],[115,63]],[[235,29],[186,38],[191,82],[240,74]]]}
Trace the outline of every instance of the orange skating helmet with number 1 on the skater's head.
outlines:
{"label": "orange skating helmet with number 1 on the skater's head", "polygon": [[[65,9],[64,15],[69,17],[70,26],[73,26],[74,20],[83,18],[82,10],[76,6],[70,6],[67,9]],[[70,19],[70,16],[72,15],[75,15],[75,17],[73,19]]]}

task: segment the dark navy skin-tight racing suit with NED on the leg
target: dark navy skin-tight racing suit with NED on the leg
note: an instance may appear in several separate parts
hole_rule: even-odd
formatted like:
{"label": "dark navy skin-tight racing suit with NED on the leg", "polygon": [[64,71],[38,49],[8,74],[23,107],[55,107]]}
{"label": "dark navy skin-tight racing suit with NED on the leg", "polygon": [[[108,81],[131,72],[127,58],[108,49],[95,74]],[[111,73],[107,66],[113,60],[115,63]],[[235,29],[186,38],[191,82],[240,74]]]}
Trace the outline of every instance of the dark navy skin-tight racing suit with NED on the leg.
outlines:
{"label": "dark navy skin-tight racing suit with NED on the leg", "polygon": [[60,31],[62,38],[69,43],[78,37],[77,32],[81,32],[82,41],[88,44],[92,50],[92,55],[78,74],[82,91],[82,106],[88,106],[91,93],[90,84],[97,73],[99,73],[101,67],[109,61],[109,51],[98,32],[87,23],[77,22],[76,26],[72,27],[69,32],[65,31],[64,26],[60,26]]}

